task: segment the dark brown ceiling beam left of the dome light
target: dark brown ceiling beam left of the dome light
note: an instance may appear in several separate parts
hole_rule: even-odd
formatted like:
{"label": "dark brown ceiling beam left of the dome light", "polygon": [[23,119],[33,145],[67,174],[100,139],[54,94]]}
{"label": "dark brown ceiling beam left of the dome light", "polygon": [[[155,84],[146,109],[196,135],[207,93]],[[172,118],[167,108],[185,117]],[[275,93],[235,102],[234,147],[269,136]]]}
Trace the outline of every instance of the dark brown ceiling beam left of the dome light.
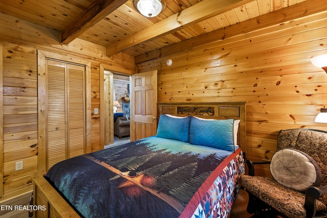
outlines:
{"label": "dark brown ceiling beam left of the dome light", "polygon": [[96,0],[61,32],[61,43],[69,44],[84,31],[125,4],[127,0]]}

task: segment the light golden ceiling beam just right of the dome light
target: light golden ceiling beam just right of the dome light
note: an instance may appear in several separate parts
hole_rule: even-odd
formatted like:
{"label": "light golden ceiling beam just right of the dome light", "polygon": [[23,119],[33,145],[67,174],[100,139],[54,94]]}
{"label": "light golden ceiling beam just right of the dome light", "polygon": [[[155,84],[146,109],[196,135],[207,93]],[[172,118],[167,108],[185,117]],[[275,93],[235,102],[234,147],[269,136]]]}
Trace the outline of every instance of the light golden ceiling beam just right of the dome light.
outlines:
{"label": "light golden ceiling beam just right of the dome light", "polygon": [[154,23],[154,25],[139,31],[124,40],[108,45],[106,47],[106,56],[112,56],[116,53],[124,52],[137,44],[170,34],[179,29],[190,26],[193,23],[216,16],[250,1],[252,0],[204,0],[177,14],[167,17],[164,20]]}

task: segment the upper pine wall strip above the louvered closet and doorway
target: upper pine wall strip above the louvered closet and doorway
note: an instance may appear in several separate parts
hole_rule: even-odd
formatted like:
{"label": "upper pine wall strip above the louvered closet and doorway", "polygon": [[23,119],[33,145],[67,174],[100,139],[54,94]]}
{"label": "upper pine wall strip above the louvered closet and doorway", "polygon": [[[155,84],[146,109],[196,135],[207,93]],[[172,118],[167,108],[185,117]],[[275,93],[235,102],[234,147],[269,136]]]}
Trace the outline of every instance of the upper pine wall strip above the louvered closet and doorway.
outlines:
{"label": "upper pine wall strip above the louvered closet and doorway", "polygon": [[[10,27],[10,31],[7,28]],[[35,35],[31,35],[35,31]],[[52,51],[59,56],[62,54],[78,56],[110,66],[111,70],[132,75],[136,67],[134,58],[123,53],[111,57],[105,56],[105,47],[81,39],[75,39],[69,45],[59,44],[59,32],[44,28],[34,23],[17,19],[7,14],[0,14],[0,38],[13,43],[18,51],[36,54],[36,49]],[[93,66],[93,64],[92,64]],[[36,71],[35,71],[36,72]]]}

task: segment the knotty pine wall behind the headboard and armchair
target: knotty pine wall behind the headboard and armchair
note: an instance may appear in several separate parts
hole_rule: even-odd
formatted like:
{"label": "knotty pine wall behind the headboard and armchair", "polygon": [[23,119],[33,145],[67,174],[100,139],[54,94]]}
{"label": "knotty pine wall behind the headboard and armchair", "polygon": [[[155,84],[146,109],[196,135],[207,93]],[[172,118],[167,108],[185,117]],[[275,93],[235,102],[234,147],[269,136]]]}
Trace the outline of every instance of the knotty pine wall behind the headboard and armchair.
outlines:
{"label": "knotty pine wall behind the headboard and armchair", "polygon": [[[277,19],[260,19],[265,18]],[[258,27],[260,19],[254,20]],[[327,11],[246,33],[249,23],[221,31],[232,37],[179,48],[182,52],[137,68],[158,70],[158,103],[246,101],[246,158],[270,160],[279,130],[327,131],[327,124],[314,122],[319,109],[327,106],[327,74],[310,62],[327,53]],[[166,65],[169,58],[171,66]],[[270,176],[269,168],[255,170]]]}

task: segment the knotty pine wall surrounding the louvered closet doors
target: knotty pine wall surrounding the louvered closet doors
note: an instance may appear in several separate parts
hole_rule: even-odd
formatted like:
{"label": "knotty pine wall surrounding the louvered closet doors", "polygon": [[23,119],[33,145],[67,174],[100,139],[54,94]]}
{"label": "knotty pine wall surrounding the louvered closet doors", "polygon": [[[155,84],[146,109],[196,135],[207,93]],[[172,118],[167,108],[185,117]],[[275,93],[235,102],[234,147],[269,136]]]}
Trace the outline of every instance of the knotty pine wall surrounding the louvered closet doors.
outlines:
{"label": "knotty pine wall surrounding the louvered closet doors", "polygon": [[[56,31],[3,13],[0,13],[0,28],[0,69],[3,69],[0,77],[0,115],[3,119],[3,134],[0,132],[0,138],[3,136],[0,146],[3,154],[0,158],[1,202],[31,191],[30,174],[38,169],[37,50],[91,62],[92,151],[103,148],[100,144],[100,64],[107,70],[128,75],[136,68],[130,56],[108,58],[104,55],[104,47],[79,39],[69,45],[60,45]],[[99,114],[94,114],[94,108],[99,108]],[[24,169],[15,171],[15,162],[20,160]]]}

